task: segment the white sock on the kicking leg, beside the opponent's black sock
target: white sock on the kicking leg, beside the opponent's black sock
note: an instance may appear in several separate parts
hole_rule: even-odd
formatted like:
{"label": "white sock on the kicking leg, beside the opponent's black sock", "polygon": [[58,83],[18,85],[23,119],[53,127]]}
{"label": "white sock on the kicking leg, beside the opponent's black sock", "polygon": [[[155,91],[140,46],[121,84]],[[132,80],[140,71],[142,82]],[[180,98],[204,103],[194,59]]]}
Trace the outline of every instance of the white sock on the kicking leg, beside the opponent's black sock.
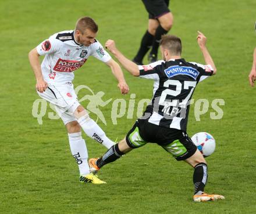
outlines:
{"label": "white sock on the kicking leg, beside the opponent's black sock", "polygon": [[84,132],[95,141],[104,145],[106,148],[111,148],[115,143],[106,137],[105,132],[94,122],[88,115],[81,116],[77,122],[84,130]]}

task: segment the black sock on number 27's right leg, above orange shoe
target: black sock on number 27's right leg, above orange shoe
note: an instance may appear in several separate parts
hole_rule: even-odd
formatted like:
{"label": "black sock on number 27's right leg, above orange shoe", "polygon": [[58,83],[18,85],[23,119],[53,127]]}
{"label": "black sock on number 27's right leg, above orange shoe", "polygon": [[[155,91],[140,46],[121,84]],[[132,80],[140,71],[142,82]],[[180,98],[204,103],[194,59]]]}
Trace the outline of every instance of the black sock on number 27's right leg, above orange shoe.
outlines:
{"label": "black sock on number 27's right leg, above orange shoe", "polygon": [[207,183],[207,164],[206,163],[198,163],[194,167],[194,195],[197,194],[198,191],[204,192],[205,184]]}

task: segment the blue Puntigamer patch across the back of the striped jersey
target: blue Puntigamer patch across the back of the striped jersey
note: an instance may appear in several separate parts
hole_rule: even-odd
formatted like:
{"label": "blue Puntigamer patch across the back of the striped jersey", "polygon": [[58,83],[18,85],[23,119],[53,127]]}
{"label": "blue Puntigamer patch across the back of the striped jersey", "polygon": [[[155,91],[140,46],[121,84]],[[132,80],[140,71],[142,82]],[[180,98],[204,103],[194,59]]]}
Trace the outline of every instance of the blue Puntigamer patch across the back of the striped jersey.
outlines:
{"label": "blue Puntigamer patch across the back of the striped jersey", "polygon": [[193,69],[193,67],[186,67],[186,66],[170,66],[168,69],[165,69],[165,74],[168,78],[183,74],[192,77],[194,80],[197,79],[199,74],[198,70]]}

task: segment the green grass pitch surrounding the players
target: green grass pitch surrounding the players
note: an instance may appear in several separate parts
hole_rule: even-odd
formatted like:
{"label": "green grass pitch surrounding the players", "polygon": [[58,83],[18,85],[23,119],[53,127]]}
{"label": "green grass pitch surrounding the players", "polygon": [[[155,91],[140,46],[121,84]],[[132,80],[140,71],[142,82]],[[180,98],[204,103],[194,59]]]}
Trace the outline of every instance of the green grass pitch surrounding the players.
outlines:
{"label": "green grass pitch surrounding the players", "polygon": [[[223,194],[225,201],[194,203],[193,169],[152,144],[105,166],[99,177],[107,185],[83,185],[62,121],[46,115],[39,125],[31,114],[39,97],[27,57],[30,49],[51,34],[73,29],[79,17],[88,15],[99,25],[97,38],[102,44],[112,38],[132,58],[147,27],[143,3],[7,0],[0,2],[0,213],[255,213],[256,88],[249,86],[248,73],[256,41],[256,2],[171,1],[170,8],[175,17],[170,33],[182,38],[183,57],[204,62],[195,40],[201,30],[218,69],[216,76],[198,85],[194,99],[207,98],[210,104],[215,98],[224,99],[224,116],[211,120],[210,107],[197,122],[192,106],[188,133],[207,131],[215,137],[216,151],[207,158],[205,191]],[[76,71],[74,86],[104,91],[104,101],[123,98],[128,103],[134,93],[137,109],[140,99],[151,98],[152,81],[124,73],[130,87],[125,96],[108,67],[90,58]],[[133,119],[126,113],[113,125],[111,107],[112,102],[101,108],[107,126],[98,123],[110,138],[120,140],[136,120],[136,112]],[[104,147],[84,138],[90,158],[104,153]]]}

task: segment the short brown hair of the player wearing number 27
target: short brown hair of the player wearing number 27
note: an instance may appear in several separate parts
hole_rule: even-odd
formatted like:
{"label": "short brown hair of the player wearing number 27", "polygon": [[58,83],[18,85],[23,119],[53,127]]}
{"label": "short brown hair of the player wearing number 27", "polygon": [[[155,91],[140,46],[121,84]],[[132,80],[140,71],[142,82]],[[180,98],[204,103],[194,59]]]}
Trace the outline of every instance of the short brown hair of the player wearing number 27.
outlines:
{"label": "short brown hair of the player wearing number 27", "polygon": [[182,40],[175,35],[162,35],[160,45],[163,48],[168,49],[172,55],[181,55],[182,54]]}

